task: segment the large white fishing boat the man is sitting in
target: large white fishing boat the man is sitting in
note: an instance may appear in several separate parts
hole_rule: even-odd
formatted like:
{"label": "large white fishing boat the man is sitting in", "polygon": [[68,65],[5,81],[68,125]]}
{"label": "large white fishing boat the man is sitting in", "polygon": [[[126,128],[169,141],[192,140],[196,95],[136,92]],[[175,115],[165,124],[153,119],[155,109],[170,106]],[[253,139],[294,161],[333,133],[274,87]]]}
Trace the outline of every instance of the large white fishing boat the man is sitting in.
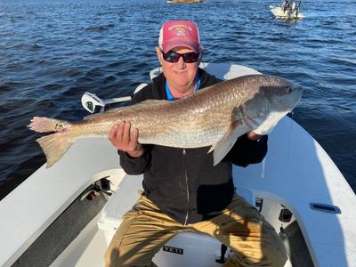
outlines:
{"label": "large white fishing boat the man is sitting in", "polygon": [[[233,64],[204,65],[223,79],[258,73]],[[284,117],[275,127],[261,164],[234,166],[233,177],[237,192],[283,239],[285,266],[356,266],[356,196],[293,119]],[[79,140],[0,202],[0,266],[103,266],[109,240],[141,187],[142,176],[125,174],[107,139]],[[207,235],[180,233],[153,261],[163,267],[222,266],[231,253],[222,248]]]}

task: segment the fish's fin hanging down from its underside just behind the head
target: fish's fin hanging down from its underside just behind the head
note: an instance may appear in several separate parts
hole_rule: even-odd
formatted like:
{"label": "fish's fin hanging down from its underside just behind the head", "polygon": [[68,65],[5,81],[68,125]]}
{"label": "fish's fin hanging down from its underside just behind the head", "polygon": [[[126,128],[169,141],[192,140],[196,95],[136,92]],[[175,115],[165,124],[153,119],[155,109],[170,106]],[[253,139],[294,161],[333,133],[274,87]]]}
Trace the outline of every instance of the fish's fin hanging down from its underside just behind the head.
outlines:
{"label": "fish's fin hanging down from its underside just behind the head", "polygon": [[231,114],[231,125],[223,138],[212,145],[209,152],[214,150],[214,166],[217,165],[229,153],[236,140],[247,132],[247,126],[240,117],[239,108],[235,108]]}

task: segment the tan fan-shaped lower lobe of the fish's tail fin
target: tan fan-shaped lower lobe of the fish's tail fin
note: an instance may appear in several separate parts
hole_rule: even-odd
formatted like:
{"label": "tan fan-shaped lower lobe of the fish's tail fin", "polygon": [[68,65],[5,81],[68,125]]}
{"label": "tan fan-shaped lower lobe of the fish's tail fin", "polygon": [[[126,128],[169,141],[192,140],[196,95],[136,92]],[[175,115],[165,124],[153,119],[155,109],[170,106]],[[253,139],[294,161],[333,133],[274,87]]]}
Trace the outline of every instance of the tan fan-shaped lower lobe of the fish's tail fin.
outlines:
{"label": "tan fan-shaped lower lobe of the fish's tail fin", "polygon": [[36,142],[44,150],[45,158],[47,158],[46,167],[53,166],[76,140],[76,138],[69,138],[68,135],[63,133],[50,134],[38,138]]}

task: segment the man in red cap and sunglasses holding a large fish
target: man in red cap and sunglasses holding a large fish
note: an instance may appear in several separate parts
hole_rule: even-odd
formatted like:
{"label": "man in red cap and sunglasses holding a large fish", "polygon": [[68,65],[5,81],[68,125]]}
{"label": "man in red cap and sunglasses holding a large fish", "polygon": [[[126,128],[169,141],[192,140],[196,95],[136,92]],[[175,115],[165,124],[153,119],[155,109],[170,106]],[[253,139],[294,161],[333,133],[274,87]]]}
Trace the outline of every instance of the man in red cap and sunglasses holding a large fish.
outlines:
{"label": "man in red cap and sunglasses holding a large fish", "polygon": [[[131,104],[181,99],[221,80],[199,69],[203,49],[198,27],[190,20],[171,20],[160,29],[158,60],[162,73]],[[159,116],[159,115],[158,115]],[[143,174],[143,192],[123,216],[105,256],[106,266],[156,266],[153,256],[182,231],[219,239],[235,252],[223,266],[283,266],[287,254],[276,231],[254,206],[235,192],[232,164],[259,163],[267,152],[266,133],[239,137],[223,161],[213,165],[209,147],[176,149],[138,142],[130,122],[109,132],[127,174]],[[245,177],[248,179],[248,177]]]}

